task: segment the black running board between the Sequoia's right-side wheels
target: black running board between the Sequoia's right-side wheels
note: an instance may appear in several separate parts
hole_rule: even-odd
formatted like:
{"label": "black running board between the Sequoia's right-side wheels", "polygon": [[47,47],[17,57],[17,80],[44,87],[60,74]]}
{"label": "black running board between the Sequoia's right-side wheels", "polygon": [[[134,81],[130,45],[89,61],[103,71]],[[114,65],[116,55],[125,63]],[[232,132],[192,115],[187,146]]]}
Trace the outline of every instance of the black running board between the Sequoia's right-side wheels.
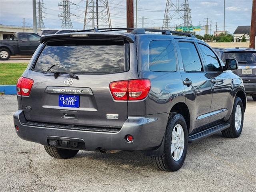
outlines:
{"label": "black running board between the Sequoia's right-side wheels", "polygon": [[212,128],[209,128],[209,129],[206,129],[206,130],[203,130],[199,133],[196,133],[196,134],[193,134],[193,135],[190,135],[188,137],[188,142],[189,143],[194,143],[194,142],[197,142],[203,138],[206,138],[206,137],[209,137],[213,134],[216,134],[217,132],[220,132],[222,130],[225,130],[227,128],[230,127],[230,124],[228,123],[223,123],[223,124],[220,124],[220,125],[217,125],[217,126],[214,126]]}

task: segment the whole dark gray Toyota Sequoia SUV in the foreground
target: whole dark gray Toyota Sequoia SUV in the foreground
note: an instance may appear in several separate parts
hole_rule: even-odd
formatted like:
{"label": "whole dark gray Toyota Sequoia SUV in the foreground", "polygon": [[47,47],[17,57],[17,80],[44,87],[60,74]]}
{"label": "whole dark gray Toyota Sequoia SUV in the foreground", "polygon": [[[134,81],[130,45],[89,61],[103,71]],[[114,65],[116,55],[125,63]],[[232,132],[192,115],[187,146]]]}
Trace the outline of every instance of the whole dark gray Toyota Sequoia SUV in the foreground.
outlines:
{"label": "whole dark gray Toyota Sequoia SUV in the foreground", "polygon": [[20,138],[55,158],[143,150],[160,170],[175,171],[188,143],[219,131],[240,136],[246,95],[230,71],[236,60],[224,65],[191,34],[120,30],[41,38],[17,82]]}

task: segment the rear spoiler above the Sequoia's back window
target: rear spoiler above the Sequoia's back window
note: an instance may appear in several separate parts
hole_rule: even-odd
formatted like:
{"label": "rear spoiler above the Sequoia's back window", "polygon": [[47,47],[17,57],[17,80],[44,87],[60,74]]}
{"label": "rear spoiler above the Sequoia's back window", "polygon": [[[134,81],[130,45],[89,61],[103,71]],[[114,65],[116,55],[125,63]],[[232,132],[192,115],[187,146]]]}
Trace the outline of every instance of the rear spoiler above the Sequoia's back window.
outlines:
{"label": "rear spoiler above the Sequoia's back window", "polygon": [[[77,35],[77,36],[76,36]],[[120,38],[126,39],[131,43],[134,43],[134,40],[129,36],[123,34],[102,34],[102,33],[66,33],[66,34],[54,34],[54,35],[46,35],[40,38],[40,42],[46,42],[48,40],[61,40],[65,38]]]}

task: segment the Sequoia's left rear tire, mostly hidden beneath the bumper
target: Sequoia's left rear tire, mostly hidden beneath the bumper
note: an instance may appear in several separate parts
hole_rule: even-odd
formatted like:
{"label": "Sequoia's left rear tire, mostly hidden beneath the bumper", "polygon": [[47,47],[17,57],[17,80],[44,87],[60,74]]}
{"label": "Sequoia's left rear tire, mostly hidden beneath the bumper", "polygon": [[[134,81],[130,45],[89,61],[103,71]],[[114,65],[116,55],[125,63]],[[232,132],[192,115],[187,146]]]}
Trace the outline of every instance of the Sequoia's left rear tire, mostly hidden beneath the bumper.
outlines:
{"label": "Sequoia's left rear tire, mostly hidden beneath the bumper", "polygon": [[72,149],[62,149],[62,148],[56,148],[54,146],[48,146],[48,145],[44,145],[44,149],[46,150],[46,152],[54,157],[54,158],[58,158],[58,159],[68,159],[68,158],[72,158],[74,157],[79,150],[72,150]]}

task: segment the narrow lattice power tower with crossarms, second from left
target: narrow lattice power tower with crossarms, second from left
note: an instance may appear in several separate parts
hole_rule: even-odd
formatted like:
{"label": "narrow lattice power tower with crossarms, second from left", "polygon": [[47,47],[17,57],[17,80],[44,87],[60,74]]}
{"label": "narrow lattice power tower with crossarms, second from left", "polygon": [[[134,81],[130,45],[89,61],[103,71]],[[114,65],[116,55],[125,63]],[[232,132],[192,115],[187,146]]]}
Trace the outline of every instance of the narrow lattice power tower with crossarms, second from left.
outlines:
{"label": "narrow lattice power tower with crossarms, second from left", "polygon": [[62,17],[62,24],[61,24],[61,28],[68,28],[68,29],[72,29],[73,25],[71,22],[70,17],[71,16],[76,16],[75,14],[70,13],[70,5],[76,5],[72,2],[70,2],[69,0],[62,0],[62,2],[58,3],[58,6],[62,6],[63,8],[63,12],[61,14],[59,14],[59,17]]}

